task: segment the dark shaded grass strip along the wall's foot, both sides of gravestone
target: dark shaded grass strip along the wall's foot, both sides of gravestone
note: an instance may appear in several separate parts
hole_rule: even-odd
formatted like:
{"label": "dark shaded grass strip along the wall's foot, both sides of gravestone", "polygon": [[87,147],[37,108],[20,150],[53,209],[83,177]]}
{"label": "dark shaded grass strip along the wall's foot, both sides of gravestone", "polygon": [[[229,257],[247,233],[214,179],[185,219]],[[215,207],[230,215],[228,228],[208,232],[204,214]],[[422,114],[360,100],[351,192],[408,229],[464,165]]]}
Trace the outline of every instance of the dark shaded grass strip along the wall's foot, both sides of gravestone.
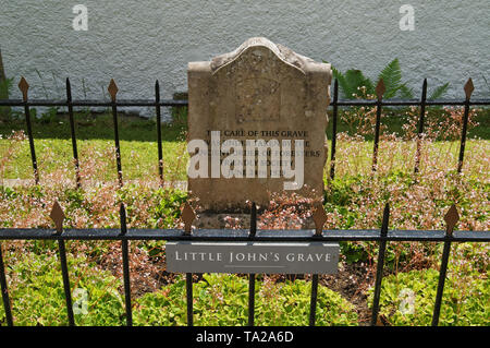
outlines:
{"label": "dark shaded grass strip along the wall's foot, both sides of gravestone", "polygon": [[[341,110],[339,115],[341,115]],[[387,127],[387,132],[403,135],[403,125],[408,121],[403,109],[385,109],[385,115],[381,119],[381,123]],[[332,111],[328,111],[329,125],[327,136],[332,139]],[[429,117],[444,117],[442,109],[433,109],[429,111]],[[172,110],[173,121],[161,124],[161,135],[164,142],[182,142],[185,141],[187,131],[187,109],[186,107],[179,110]],[[479,124],[468,130],[468,139],[479,137],[490,140],[490,108],[478,111],[475,121]],[[76,139],[77,140],[113,140],[114,127],[111,113],[93,113],[83,112],[75,113]],[[351,135],[358,133],[358,124],[346,124],[339,116],[338,133],[346,132]],[[156,142],[157,141],[157,122],[155,118],[145,119],[137,116],[120,115],[118,117],[118,129],[121,141],[135,142]],[[0,122],[0,134],[8,136],[12,131],[26,131],[25,120],[17,119],[12,121]],[[33,132],[35,139],[71,139],[70,121],[66,115],[57,115],[49,120],[34,119]],[[366,135],[366,141],[372,141],[372,135]]]}

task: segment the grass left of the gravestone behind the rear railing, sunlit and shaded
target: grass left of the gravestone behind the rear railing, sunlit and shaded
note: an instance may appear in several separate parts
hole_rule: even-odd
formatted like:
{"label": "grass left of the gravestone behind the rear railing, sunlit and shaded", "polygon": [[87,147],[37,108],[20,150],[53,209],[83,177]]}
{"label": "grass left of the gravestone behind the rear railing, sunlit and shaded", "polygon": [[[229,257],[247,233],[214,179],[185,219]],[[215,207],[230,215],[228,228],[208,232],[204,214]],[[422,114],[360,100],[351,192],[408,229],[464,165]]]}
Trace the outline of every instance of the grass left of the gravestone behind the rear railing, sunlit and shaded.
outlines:
{"label": "grass left of the gravestone behind the rear railing, sunlit and shaded", "polygon": [[[103,168],[93,170],[95,180],[115,180],[114,132],[110,115],[100,115],[95,119],[76,118],[76,139],[78,158],[82,171],[90,166],[90,161],[99,158]],[[121,146],[121,161],[124,179],[144,179],[158,176],[157,130],[152,120],[134,117],[120,117],[119,133]],[[0,128],[0,158],[4,157],[11,142],[5,137],[12,131],[24,131],[21,121],[4,123]],[[186,179],[186,144],[184,128],[180,124],[162,124],[162,152],[166,180]],[[72,140],[70,123],[66,117],[59,117],[57,122],[33,122],[34,144],[38,161],[39,173],[54,170],[73,170]],[[179,170],[177,170],[179,169]],[[3,168],[4,179],[30,179],[33,177],[30,151],[27,139],[19,144],[9,164]]]}

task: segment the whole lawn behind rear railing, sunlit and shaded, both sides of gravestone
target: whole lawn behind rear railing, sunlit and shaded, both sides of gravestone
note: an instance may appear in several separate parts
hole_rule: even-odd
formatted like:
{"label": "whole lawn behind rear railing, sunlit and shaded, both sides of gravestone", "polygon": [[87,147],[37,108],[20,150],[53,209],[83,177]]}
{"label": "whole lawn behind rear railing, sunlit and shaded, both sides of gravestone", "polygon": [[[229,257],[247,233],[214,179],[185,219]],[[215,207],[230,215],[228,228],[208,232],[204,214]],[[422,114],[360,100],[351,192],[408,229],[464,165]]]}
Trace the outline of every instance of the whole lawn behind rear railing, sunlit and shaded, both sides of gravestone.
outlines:
{"label": "whole lawn behind rear railing, sunlit and shaded, both sides of gravestone", "polygon": [[[400,110],[399,110],[400,111]],[[431,117],[439,117],[438,110],[431,111]],[[186,180],[186,164],[188,154],[185,144],[185,110],[181,112],[177,122],[162,124],[162,149],[164,164],[166,181]],[[175,115],[175,112],[174,112]],[[399,116],[387,116],[383,122],[388,125],[388,132],[403,133],[402,125],[406,118]],[[438,116],[439,115],[439,116]],[[87,113],[77,113],[76,139],[78,146],[78,158],[81,160],[82,172],[93,180],[110,181],[117,180],[115,157],[114,157],[114,131],[112,116],[108,113],[97,115],[95,117]],[[488,109],[483,109],[477,117],[480,125],[468,132],[465,159],[473,156],[474,148],[482,144],[488,148],[490,144],[490,115]],[[157,149],[157,130],[154,120],[145,120],[136,117],[120,117],[119,133],[121,143],[121,161],[123,179],[145,179],[157,178],[158,176],[158,149]],[[327,131],[329,141],[331,140],[332,122],[329,123]],[[355,124],[347,125],[339,123],[339,132],[354,133]],[[25,132],[25,122],[22,120],[11,121],[0,124],[0,159],[11,146],[8,141],[12,131]],[[66,170],[73,172],[73,153],[70,134],[70,123],[66,116],[57,116],[56,119],[36,120],[33,122],[33,133],[35,139],[36,155],[39,168],[39,175],[49,175],[56,170]],[[480,140],[476,140],[480,139]],[[357,149],[343,153],[343,149],[352,145],[352,142],[338,141],[338,159],[343,160],[343,156],[348,156],[348,163],[340,163],[336,166],[339,175],[348,175],[351,172],[368,172],[372,160],[372,139],[366,136],[365,141],[356,143]],[[4,160],[0,172],[3,179],[30,179],[33,169],[30,161],[30,152],[28,141],[24,140],[11,155]],[[352,147],[352,146],[351,146]],[[409,153],[415,154],[414,142],[399,142],[397,152],[392,153],[388,144],[380,144],[380,161],[389,161],[393,168],[406,168],[407,158],[403,149],[408,148]],[[330,148],[329,148],[330,151]],[[460,141],[437,142],[431,145],[432,156],[450,156],[451,161],[444,163],[451,167],[456,167],[457,154],[460,151]],[[329,156],[330,157],[330,156]],[[91,168],[91,161],[99,158],[99,166],[102,168]],[[413,167],[414,158],[409,158]],[[480,160],[481,161],[481,160]],[[483,164],[482,164],[483,165]],[[424,164],[422,164],[424,166]],[[327,166],[329,168],[329,164]],[[88,169],[88,170],[87,170]]]}

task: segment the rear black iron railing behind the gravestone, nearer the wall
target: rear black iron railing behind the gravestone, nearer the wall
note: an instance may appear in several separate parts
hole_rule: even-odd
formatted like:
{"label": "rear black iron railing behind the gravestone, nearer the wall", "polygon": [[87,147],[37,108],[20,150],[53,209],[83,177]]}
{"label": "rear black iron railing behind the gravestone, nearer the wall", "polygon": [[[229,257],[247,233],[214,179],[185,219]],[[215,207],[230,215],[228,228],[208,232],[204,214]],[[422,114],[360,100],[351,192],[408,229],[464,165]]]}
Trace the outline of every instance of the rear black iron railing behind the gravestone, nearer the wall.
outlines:
{"label": "rear black iron railing behind the gravestone, nearer the wall", "polygon": [[[72,99],[72,87],[70,80],[66,79],[66,99],[65,100],[29,100],[28,99],[28,88],[29,85],[24,77],[21,79],[19,87],[23,94],[23,99],[0,99],[0,106],[10,107],[24,107],[25,118],[26,118],[26,129],[27,136],[29,140],[30,158],[34,170],[34,179],[36,183],[39,183],[39,171],[37,167],[36,149],[34,146],[34,135],[32,130],[30,120],[30,107],[68,107],[69,118],[70,118],[70,131],[73,147],[73,158],[75,166],[75,178],[76,185],[81,185],[79,177],[79,161],[78,161],[78,151],[76,146],[76,125],[74,119],[73,107],[110,107],[112,110],[113,128],[114,128],[114,146],[115,146],[115,167],[118,170],[118,180],[120,185],[123,183],[122,177],[122,165],[121,165],[121,151],[119,145],[119,130],[118,130],[118,107],[155,107],[157,115],[157,147],[158,147],[158,168],[159,168],[159,179],[161,185],[163,185],[163,152],[162,152],[162,140],[161,140],[161,107],[185,107],[188,106],[187,100],[171,100],[160,99],[160,86],[159,82],[155,83],[155,99],[117,99],[117,94],[119,92],[118,86],[113,80],[110,81],[108,91],[111,96],[110,101],[103,100],[73,100]],[[418,172],[420,165],[420,148],[421,139],[424,133],[425,113],[426,106],[463,106],[463,127],[461,133],[460,142],[460,156],[457,161],[457,171],[461,172],[463,169],[463,160],[466,147],[466,136],[468,128],[468,115],[471,106],[490,106],[490,99],[474,99],[471,100],[471,94],[474,91],[473,81],[468,79],[464,86],[465,99],[463,100],[428,100],[427,99],[427,79],[424,80],[422,93],[420,99],[407,99],[407,100],[396,100],[388,99],[383,100],[382,96],[384,93],[384,83],[382,80],[379,81],[377,87],[377,99],[339,99],[339,83],[335,80],[333,84],[333,97],[330,103],[332,108],[332,140],[331,140],[331,152],[330,152],[330,179],[334,179],[335,176],[335,154],[336,154],[336,134],[338,134],[338,123],[339,123],[339,107],[376,107],[376,125],[375,125],[375,140],[372,149],[372,170],[377,170],[378,164],[378,146],[380,137],[380,127],[381,127],[381,113],[383,107],[396,107],[396,106],[418,106],[420,107],[418,132],[417,132],[417,148],[415,154],[415,167],[414,172]]]}

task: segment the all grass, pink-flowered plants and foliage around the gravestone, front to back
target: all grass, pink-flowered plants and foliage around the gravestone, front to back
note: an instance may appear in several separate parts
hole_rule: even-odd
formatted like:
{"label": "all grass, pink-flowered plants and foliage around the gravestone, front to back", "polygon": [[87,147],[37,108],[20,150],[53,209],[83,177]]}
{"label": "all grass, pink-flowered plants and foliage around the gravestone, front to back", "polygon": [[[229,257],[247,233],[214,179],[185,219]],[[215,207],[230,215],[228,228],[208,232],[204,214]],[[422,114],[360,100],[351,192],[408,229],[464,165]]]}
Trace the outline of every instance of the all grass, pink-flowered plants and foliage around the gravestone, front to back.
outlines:
{"label": "all grass, pink-flowered plants and foliage around the gravestone, front to back", "polygon": [[[489,229],[490,142],[488,109],[471,110],[463,172],[458,175],[460,108],[428,108],[421,140],[420,171],[414,173],[417,108],[383,109],[379,160],[371,171],[373,108],[340,112],[335,179],[326,166],[326,228],[379,228],[382,207],[391,206],[390,228],[443,229],[452,204],[460,209],[457,229]],[[0,226],[51,228],[49,211],[58,200],[65,227],[118,228],[119,204],[125,203],[130,227],[182,227],[187,200],[185,111],[162,127],[166,187],[158,180],[156,123],[120,118],[124,187],[117,184],[112,120],[109,115],[76,115],[82,188],[75,188],[68,118],[53,115],[33,124],[41,182],[32,178],[28,142],[22,119],[0,123]],[[331,130],[328,130],[331,134]],[[329,135],[329,139],[331,135]],[[15,181],[12,179],[23,179]],[[311,212],[293,199],[278,197],[262,207],[260,228],[297,228]],[[230,221],[231,227],[236,227]],[[433,305],[441,255],[438,243],[389,243],[387,278],[381,292],[382,323],[427,325]],[[52,242],[2,241],[14,322],[65,324],[64,297]],[[78,325],[124,324],[121,249],[114,242],[66,243],[72,289],[88,292],[87,314]],[[377,244],[341,243],[339,275],[320,277],[317,323],[365,325]],[[441,311],[443,325],[489,325],[489,245],[454,245]],[[185,325],[185,286],[164,268],[164,242],[131,242],[132,295],[138,325]],[[306,325],[308,278],[260,276],[256,287],[257,324]],[[49,284],[50,286],[45,286]],[[195,277],[197,325],[243,325],[247,280],[242,276]],[[414,311],[403,309],[414,295]],[[407,302],[408,301],[408,302]],[[403,305],[402,305],[403,304]],[[409,303],[408,303],[409,304]],[[287,315],[286,315],[287,314]],[[0,324],[4,324],[3,308]]]}

